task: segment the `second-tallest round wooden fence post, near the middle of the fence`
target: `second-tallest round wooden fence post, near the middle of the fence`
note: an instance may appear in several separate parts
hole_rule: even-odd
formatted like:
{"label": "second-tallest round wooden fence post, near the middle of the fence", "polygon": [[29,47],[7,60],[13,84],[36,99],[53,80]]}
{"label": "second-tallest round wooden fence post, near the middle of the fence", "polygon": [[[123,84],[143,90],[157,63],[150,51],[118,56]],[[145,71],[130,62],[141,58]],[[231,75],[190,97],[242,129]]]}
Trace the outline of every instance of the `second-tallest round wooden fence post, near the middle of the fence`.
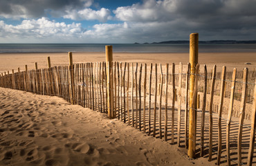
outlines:
{"label": "second-tallest round wooden fence post, near the middle of the fence", "polygon": [[112,46],[105,46],[106,49],[106,63],[107,63],[107,111],[110,119],[116,118],[116,112],[113,111],[113,77],[112,61],[113,61],[113,50]]}

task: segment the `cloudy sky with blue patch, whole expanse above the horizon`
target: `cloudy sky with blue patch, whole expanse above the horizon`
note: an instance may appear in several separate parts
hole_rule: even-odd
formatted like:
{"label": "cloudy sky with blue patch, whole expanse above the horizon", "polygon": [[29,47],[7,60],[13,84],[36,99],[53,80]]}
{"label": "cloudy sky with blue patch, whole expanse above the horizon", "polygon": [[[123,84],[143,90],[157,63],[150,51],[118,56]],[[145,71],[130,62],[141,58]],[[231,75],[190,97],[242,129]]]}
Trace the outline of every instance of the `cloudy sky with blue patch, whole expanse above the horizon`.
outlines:
{"label": "cloudy sky with blue patch, whole expanse above the horizon", "polygon": [[256,0],[1,0],[0,43],[256,40]]}

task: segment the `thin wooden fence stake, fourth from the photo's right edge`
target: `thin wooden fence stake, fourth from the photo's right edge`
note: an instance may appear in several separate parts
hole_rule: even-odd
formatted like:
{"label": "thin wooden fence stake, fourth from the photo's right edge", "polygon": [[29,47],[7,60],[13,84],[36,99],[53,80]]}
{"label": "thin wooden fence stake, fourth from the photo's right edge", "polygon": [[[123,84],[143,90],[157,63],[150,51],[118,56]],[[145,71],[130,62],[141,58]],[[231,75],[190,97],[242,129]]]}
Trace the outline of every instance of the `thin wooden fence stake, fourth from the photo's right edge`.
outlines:
{"label": "thin wooden fence stake, fourth from the photo's right edge", "polygon": [[219,117],[218,117],[218,151],[217,151],[217,165],[221,163],[221,147],[222,147],[222,138],[221,138],[221,115],[223,108],[223,98],[224,98],[224,90],[225,90],[225,80],[226,80],[226,66],[223,66],[221,73],[221,91],[219,97]]}

